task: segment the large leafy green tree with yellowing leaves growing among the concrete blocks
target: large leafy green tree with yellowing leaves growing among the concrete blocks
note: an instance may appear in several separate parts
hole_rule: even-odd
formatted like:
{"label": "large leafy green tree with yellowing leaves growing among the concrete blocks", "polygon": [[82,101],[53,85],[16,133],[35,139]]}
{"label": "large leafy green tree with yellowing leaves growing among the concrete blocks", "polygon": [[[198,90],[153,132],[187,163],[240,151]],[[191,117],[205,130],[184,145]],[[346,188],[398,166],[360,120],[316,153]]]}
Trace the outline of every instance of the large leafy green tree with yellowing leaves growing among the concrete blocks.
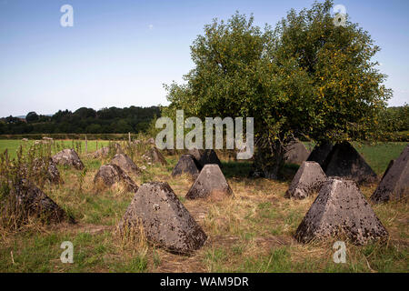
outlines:
{"label": "large leafy green tree with yellowing leaves growing among the concrete blocks", "polygon": [[167,113],[254,117],[254,166],[268,177],[277,177],[294,137],[371,137],[392,94],[373,60],[379,47],[359,25],[334,25],[332,7],[291,10],[274,30],[238,13],[205,25],[186,83],[166,86]]}

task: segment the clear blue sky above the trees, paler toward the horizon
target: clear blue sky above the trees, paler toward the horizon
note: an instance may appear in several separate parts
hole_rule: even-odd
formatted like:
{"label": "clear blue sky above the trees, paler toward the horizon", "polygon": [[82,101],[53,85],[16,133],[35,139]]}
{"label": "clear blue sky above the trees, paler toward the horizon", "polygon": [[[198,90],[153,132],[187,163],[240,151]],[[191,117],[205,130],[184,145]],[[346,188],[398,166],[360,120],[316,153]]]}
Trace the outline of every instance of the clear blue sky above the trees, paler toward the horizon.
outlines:
{"label": "clear blue sky above the trees, paler toward the horizon", "polygon": [[[0,116],[59,109],[167,105],[163,84],[192,67],[189,46],[238,10],[275,25],[309,0],[0,0]],[[62,5],[74,26],[62,27]],[[337,0],[382,48],[389,105],[409,103],[409,1]]]}

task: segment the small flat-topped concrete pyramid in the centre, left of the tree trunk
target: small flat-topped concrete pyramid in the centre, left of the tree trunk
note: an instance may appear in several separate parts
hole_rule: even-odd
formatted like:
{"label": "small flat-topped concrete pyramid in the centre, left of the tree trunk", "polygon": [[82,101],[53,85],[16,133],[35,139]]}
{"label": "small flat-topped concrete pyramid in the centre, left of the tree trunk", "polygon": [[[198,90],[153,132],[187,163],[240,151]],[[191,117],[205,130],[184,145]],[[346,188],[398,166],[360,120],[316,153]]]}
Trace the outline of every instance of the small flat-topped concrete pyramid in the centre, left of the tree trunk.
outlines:
{"label": "small flat-topped concrete pyramid in the centre, left of the tree trunk", "polygon": [[233,196],[232,188],[216,164],[205,165],[186,194],[187,199]]}

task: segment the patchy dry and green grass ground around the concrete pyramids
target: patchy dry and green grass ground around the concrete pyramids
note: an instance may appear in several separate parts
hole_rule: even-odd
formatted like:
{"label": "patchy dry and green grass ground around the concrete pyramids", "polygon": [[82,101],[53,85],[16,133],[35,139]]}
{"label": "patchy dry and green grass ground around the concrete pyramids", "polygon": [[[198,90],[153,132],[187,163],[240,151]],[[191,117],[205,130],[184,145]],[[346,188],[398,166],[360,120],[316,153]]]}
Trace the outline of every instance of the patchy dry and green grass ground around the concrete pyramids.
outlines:
{"label": "patchy dry and green grass ground around the concrete pyramids", "polygon": [[[0,141],[12,152],[19,141]],[[69,146],[70,142],[66,142]],[[378,175],[389,160],[399,156],[404,143],[357,147]],[[12,149],[14,148],[14,149]],[[333,261],[334,241],[303,245],[294,231],[315,196],[302,201],[284,198],[288,181],[248,178],[248,162],[222,158],[224,176],[234,198],[219,202],[185,200],[193,181],[172,177],[178,156],[166,156],[168,166],[149,166],[135,157],[144,174],[134,176],[138,186],[148,181],[167,182],[203,227],[208,240],[192,256],[173,255],[145,242],[115,235],[115,227],[133,198],[113,188],[96,193],[93,178],[105,160],[83,156],[84,183],[79,171],[59,167],[62,186],[45,186],[45,193],[75,216],[77,224],[26,226],[17,233],[1,231],[0,272],[408,272],[408,204],[372,205],[390,234],[386,246],[347,243],[345,264]],[[374,186],[361,187],[367,198]],[[63,264],[64,241],[74,244],[74,264]]]}

